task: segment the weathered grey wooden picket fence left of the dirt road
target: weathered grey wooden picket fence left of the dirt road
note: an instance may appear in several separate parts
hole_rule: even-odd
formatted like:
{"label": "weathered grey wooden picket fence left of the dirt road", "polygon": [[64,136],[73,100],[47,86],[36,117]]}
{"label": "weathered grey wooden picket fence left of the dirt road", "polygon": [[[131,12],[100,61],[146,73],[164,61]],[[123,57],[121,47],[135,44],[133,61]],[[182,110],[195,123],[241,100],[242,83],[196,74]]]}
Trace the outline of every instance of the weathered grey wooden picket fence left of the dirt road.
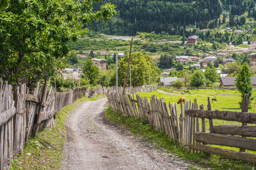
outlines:
{"label": "weathered grey wooden picket fence left of the dirt road", "polygon": [[43,87],[38,83],[30,92],[26,84],[13,89],[0,80],[0,169],[10,168],[11,160],[23,151],[29,137],[41,129],[54,127],[55,115],[61,108],[95,94],[104,94],[104,90],[79,87],[56,92],[47,83]]}

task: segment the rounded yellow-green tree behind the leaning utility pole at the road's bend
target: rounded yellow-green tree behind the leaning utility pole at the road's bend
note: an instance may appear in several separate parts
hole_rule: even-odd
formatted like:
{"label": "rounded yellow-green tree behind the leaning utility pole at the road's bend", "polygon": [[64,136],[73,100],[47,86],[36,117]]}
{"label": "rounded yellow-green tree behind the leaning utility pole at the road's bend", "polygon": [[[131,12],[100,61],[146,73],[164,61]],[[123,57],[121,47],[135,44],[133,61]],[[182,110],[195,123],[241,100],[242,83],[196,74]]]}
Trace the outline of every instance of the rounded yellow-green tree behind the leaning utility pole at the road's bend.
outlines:
{"label": "rounded yellow-green tree behind the leaning utility pole at the road's bend", "polygon": [[[124,85],[124,78],[127,71],[129,55],[118,61],[118,85]],[[150,81],[157,81],[158,68],[156,63],[149,55],[144,55],[142,52],[133,52],[131,54],[131,73],[132,73],[132,86],[138,87],[148,84],[149,76]],[[129,76],[128,81],[129,82]]]}

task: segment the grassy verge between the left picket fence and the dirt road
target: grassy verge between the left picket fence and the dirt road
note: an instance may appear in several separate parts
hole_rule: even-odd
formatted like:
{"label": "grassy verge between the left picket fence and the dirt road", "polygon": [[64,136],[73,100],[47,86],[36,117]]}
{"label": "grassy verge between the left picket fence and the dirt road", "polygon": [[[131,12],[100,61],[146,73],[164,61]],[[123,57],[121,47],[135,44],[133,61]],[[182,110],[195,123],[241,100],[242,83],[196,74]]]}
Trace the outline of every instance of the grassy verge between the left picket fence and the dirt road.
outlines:
{"label": "grassy verge between the left picket fence and the dirt road", "polygon": [[89,100],[97,100],[97,97],[83,97],[65,106],[56,114],[56,127],[44,129],[38,132],[35,138],[30,138],[24,151],[12,160],[10,169],[60,169],[66,140],[64,121],[67,113]]}

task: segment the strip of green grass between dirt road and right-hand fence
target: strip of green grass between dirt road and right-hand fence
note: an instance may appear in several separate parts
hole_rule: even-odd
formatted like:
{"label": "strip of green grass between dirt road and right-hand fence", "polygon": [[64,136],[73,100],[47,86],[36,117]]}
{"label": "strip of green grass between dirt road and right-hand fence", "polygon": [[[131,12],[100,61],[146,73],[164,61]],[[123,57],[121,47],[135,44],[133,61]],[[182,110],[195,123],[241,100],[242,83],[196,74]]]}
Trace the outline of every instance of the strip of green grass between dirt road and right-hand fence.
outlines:
{"label": "strip of green grass between dirt road and right-hand fence", "polygon": [[[179,143],[172,141],[164,132],[157,132],[151,129],[147,120],[138,120],[136,118],[125,117],[122,113],[117,113],[108,108],[105,116],[116,124],[124,125],[135,136],[147,143],[151,143],[159,150],[164,152],[175,153],[182,159],[187,159],[206,168],[214,169],[252,169],[253,164],[249,164],[243,160],[229,160],[218,155],[209,153],[188,153],[184,148],[179,146]],[[196,167],[190,167],[196,169]]]}

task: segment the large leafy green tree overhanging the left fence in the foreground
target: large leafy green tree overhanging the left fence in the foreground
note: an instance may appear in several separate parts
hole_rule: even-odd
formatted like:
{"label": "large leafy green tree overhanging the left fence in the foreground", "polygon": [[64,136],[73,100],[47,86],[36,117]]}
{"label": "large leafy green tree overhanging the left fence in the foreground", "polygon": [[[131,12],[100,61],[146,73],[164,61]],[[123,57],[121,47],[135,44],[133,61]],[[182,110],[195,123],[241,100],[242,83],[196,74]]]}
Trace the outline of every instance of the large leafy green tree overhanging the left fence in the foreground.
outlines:
{"label": "large leafy green tree overhanging the left fence in the foreground", "polygon": [[66,62],[67,42],[84,36],[84,25],[115,15],[115,5],[93,10],[92,2],[10,1],[0,13],[0,77],[15,85],[33,85],[52,76]]}

